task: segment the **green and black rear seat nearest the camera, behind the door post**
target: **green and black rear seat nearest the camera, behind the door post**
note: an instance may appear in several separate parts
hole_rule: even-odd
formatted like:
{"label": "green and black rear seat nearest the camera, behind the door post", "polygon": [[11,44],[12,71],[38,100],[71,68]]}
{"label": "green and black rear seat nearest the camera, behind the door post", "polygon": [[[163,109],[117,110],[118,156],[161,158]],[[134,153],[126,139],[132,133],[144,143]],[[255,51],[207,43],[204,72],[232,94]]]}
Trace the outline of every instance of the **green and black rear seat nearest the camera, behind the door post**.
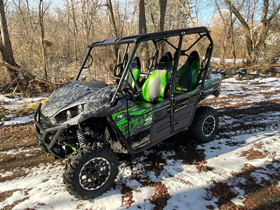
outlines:
{"label": "green and black rear seat nearest the camera, behind the door post", "polygon": [[196,80],[200,69],[200,61],[197,51],[191,52],[186,63],[177,72],[177,90],[196,88]]}

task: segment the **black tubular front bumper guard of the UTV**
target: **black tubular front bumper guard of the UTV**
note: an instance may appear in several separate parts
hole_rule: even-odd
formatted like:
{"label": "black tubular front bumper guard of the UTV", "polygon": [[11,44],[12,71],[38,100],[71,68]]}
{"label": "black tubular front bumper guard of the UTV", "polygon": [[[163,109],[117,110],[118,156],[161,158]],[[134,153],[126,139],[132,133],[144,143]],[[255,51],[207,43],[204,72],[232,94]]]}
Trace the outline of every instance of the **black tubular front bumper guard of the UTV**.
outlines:
{"label": "black tubular front bumper guard of the UTV", "polygon": [[[40,103],[35,115],[34,115],[34,126],[35,126],[35,130],[37,133],[37,137],[40,139],[40,141],[42,141],[45,146],[47,147],[47,149],[49,150],[49,152],[60,158],[61,156],[56,153],[53,150],[54,144],[56,143],[60,133],[64,130],[70,127],[69,124],[65,124],[65,125],[58,125],[58,126],[54,126],[54,127],[50,127],[50,128],[43,128],[42,124],[41,124],[41,106],[42,104]],[[49,143],[47,143],[47,138],[49,138],[49,136],[52,136],[52,139]]]}

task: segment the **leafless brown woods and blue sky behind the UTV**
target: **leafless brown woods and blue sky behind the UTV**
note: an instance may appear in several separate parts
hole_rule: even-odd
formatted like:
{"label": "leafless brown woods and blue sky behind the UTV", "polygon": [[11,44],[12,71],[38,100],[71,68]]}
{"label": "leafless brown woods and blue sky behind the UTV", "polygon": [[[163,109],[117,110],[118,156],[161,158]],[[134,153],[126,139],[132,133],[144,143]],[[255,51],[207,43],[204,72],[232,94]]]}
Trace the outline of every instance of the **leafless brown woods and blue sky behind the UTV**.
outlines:
{"label": "leafless brown woods and blue sky behind the UTV", "polygon": [[[196,26],[211,30],[212,57],[222,65],[272,62],[280,56],[279,10],[279,0],[0,0],[0,89],[73,79],[94,41]],[[141,47],[146,58],[149,47]],[[94,50],[89,74],[108,79],[118,56],[118,47]]]}

